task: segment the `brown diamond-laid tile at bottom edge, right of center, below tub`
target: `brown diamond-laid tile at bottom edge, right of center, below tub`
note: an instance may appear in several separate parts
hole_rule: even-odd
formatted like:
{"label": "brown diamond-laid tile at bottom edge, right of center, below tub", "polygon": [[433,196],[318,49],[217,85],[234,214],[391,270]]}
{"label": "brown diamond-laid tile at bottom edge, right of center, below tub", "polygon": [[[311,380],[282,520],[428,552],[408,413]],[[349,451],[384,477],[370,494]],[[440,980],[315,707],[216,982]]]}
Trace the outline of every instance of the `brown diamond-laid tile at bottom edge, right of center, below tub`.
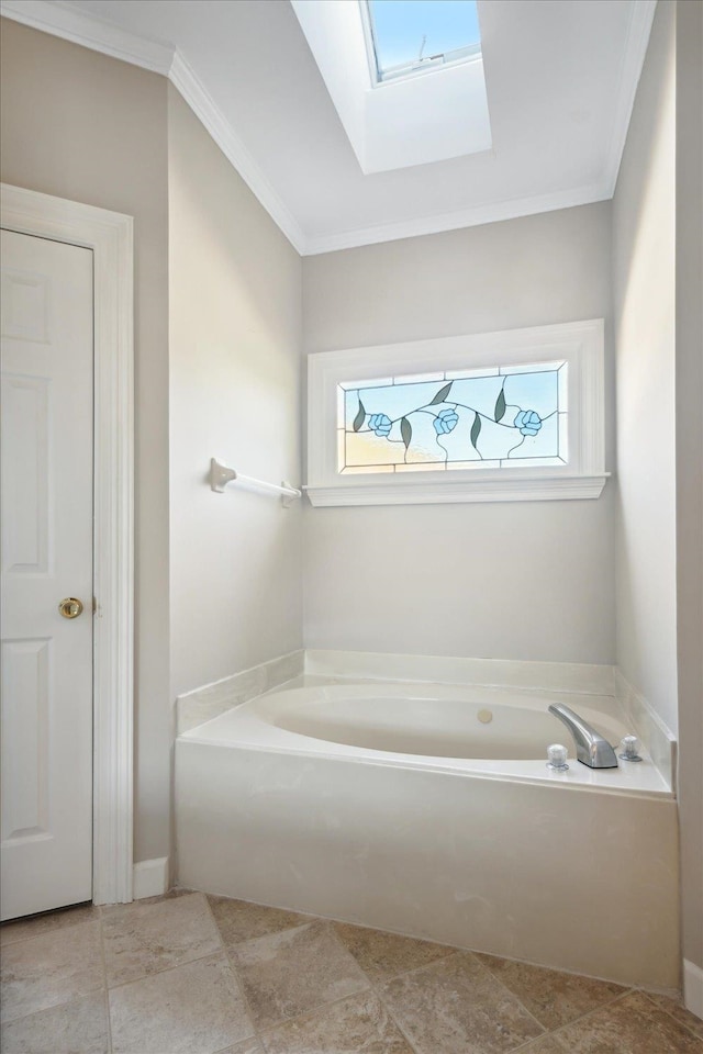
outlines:
{"label": "brown diamond-laid tile at bottom edge, right of center, below tub", "polygon": [[417,1054],[503,1054],[543,1031],[469,953],[404,974],[379,991]]}

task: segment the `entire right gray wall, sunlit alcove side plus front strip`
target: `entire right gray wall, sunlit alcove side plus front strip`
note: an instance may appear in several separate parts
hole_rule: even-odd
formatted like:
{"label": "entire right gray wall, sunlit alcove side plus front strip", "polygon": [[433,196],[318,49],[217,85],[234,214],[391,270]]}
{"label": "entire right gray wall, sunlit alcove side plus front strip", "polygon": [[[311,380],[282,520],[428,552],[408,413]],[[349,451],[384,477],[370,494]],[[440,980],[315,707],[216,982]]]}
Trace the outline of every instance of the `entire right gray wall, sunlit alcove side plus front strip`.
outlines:
{"label": "entire right gray wall, sunlit alcove side plus front strip", "polygon": [[703,7],[659,0],[613,204],[617,662],[678,729],[683,955],[703,967]]}

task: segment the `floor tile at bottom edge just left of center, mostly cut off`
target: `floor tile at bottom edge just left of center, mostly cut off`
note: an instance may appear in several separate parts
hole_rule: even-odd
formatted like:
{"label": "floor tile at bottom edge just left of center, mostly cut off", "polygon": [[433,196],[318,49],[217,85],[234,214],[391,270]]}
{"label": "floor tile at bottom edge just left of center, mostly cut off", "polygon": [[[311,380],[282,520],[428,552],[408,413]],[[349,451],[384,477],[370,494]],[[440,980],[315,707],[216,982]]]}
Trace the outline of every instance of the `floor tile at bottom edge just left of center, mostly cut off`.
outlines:
{"label": "floor tile at bottom edge just left of center, mostly cut off", "polygon": [[372,993],[353,996],[265,1032],[266,1054],[413,1054]]}

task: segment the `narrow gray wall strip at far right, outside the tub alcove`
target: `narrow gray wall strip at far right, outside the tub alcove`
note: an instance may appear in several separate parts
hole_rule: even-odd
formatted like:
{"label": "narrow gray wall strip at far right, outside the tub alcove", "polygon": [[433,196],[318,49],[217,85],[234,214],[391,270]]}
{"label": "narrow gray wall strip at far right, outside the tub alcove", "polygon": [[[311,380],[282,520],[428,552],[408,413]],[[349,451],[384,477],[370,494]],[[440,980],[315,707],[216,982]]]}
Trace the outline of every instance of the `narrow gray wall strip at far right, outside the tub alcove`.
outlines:
{"label": "narrow gray wall strip at far right, outside the tub alcove", "polygon": [[677,7],[677,587],[683,955],[703,968],[703,4]]}

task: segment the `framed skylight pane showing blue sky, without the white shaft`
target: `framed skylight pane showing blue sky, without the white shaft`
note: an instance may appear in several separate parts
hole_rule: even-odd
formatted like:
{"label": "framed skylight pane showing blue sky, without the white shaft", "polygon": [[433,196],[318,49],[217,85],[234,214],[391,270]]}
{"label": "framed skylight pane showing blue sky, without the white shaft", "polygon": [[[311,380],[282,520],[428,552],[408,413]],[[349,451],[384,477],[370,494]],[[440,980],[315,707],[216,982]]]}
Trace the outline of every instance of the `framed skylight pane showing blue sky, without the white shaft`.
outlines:
{"label": "framed skylight pane showing blue sky, without the white shaft", "polygon": [[476,0],[360,0],[377,83],[481,54]]}

